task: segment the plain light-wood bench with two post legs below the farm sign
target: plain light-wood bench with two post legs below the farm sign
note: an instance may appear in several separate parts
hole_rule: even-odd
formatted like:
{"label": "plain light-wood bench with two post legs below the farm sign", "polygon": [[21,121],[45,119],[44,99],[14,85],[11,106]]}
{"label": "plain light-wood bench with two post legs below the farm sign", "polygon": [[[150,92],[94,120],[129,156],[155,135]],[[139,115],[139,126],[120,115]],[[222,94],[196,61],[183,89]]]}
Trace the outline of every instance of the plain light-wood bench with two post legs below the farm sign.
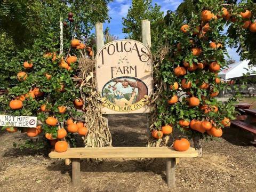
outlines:
{"label": "plain light-wood bench with two post legs below the farm sign", "polygon": [[81,181],[80,158],[167,158],[166,182],[168,187],[175,187],[175,158],[197,157],[194,148],[187,151],[175,151],[169,147],[102,147],[102,148],[68,148],[63,153],[51,152],[50,158],[71,158],[72,183],[75,187]]}

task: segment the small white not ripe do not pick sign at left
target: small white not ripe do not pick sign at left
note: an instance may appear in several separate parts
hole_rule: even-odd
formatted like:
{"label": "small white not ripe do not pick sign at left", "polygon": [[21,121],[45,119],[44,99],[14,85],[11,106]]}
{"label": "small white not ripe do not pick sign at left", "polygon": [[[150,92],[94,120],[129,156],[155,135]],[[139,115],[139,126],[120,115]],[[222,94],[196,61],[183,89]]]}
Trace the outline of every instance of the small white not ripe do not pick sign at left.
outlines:
{"label": "small white not ripe do not pick sign at left", "polygon": [[36,127],[37,117],[0,115],[0,126]]}

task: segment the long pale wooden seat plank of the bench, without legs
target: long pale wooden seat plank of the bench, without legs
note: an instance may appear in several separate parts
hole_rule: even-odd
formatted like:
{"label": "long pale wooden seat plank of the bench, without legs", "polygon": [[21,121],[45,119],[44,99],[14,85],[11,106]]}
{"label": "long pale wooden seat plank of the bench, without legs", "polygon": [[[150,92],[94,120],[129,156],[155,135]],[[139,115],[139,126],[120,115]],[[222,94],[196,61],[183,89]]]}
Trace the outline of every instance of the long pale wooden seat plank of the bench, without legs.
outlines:
{"label": "long pale wooden seat plank of the bench, without legs", "polygon": [[182,158],[197,157],[195,148],[175,151],[171,147],[95,147],[68,148],[63,153],[52,151],[51,158]]}

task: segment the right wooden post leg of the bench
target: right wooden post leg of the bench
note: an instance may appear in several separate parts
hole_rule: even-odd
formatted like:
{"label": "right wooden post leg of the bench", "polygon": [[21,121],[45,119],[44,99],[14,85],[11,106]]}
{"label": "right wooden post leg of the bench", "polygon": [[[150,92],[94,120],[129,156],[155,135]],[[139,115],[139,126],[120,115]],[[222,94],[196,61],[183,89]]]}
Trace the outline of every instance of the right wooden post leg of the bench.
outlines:
{"label": "right wooden post leg of the bench", "polygon": [[170,188],[175,187],[175,158],[166,159],[166,183]]}

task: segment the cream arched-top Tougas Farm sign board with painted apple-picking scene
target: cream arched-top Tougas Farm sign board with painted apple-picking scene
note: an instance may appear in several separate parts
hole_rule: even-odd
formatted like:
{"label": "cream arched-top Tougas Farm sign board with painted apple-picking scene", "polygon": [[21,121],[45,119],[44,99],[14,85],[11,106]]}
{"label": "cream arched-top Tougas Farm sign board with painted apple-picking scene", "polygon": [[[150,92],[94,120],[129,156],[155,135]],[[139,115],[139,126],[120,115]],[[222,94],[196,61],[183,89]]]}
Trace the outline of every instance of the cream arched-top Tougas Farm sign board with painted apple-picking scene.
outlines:
{"label": "cream arched-top Tougas Farm sign board with painted apple-picking scene", "polygon": [[150,50],[138,41],[118,40],[104,45],[96,55],[97,88],[103,112],[148,113],[153,93]]}

